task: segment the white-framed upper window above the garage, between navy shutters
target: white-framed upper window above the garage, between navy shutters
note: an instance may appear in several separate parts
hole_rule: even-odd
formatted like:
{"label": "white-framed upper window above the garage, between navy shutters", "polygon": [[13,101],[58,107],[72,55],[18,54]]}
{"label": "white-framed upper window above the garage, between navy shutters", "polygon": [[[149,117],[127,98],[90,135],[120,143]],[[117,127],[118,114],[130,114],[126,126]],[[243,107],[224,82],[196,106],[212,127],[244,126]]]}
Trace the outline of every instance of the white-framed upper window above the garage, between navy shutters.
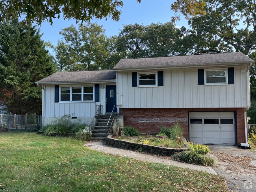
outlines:
{"label": "white-framed upper window above the garage, between navy shutters", "polygon": [[223,85],[228,84],[228,69],[205,69],[204,70],[204,84],[205,85]]}

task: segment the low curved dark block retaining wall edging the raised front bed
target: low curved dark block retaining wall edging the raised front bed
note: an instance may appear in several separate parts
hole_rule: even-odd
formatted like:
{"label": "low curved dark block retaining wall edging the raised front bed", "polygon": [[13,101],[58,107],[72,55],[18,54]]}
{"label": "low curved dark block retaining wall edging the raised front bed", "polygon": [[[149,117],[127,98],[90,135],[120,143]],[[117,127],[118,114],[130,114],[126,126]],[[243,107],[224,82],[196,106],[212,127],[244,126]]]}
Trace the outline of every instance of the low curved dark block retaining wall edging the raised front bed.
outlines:
{"label": "low curved dark block retaining wall edging the raised front bed", "polygon": [[142,148],[142,150],[147,153],[171,156],[174,153],[178,153],[180,151],[185,151],[188,149],[188,148],[173,149],[173,148],[157,147],[157,146],[146,145],[141,143],[129,142],[125,140],[119,140],[119,139],[112,138],[112,136],[113,135],[108,135],[108,138],[106,140],[106,145],[116,147],[116,148],[122,148],[126,150],[138,150],[139,148]]}

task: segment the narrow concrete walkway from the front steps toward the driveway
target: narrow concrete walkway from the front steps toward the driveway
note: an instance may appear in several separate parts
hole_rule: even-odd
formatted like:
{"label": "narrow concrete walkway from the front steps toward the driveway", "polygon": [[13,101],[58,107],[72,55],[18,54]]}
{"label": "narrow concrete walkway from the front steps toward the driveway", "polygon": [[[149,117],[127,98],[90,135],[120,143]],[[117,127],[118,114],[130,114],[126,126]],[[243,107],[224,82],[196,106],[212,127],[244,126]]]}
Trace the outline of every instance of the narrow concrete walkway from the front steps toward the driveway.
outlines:
{"label": "narrow concrete walkway from the front steps toward the driveway", "polygon": [[104,153],[111,153],[113,155],[122,155],[124,157],[130,157],[130,158],[134,158],[134,159],[141,160],[141,161],[163,163],[166,165],[173,165],[173,166],[182,167],[182,168],[189,168],[189,169],[193,169],[193,170],[197,170],[197,171],[204,171],[204,172],[208,172],[213,175],[217,175],[217,172],[215,172],[215,170],[213,170],[213,168],[211,168],[211,167],[193,165],[193,164],[188,164],[188,163],[184,163],[184,162],[163,159],[161,157],[155,157],[152,155],[145,155],[143,153],[137,153],[135,151],[114,148],[114,147],[104,145],[103,142],[91,142],[91,143],[85,144],[84,146],[87,146],[88,148],[93,149],[93,150],[102,151]]}

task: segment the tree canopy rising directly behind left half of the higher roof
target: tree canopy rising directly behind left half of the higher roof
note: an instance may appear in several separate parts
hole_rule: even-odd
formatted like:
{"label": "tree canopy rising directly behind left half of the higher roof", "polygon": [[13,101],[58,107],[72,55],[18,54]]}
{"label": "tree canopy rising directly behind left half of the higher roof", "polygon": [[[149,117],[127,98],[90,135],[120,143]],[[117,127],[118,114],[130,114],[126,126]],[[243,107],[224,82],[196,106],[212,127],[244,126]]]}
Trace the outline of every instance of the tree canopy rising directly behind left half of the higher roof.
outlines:
{"label": "tree canopy rising directly behind left half of the higher roof", "polygon": [[180,54],[184,34],[171,22],[126,25],[117,37],[117,51],[128,58]]}

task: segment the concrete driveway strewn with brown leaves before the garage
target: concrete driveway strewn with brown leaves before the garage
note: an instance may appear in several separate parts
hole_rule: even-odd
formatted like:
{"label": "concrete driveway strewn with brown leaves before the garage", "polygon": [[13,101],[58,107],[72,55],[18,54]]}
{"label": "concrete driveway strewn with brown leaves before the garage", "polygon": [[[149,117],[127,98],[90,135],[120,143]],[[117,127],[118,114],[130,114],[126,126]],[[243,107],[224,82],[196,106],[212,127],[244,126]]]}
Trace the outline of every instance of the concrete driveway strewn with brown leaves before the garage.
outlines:
{"label": "concrete driveway strewn with brown leaves before the garage", "polygon": [[228,187],[234,192],[256,192],[256,154],[234,146],[209,146],[210,156],[218,161],[213,168],[228,179]]}

